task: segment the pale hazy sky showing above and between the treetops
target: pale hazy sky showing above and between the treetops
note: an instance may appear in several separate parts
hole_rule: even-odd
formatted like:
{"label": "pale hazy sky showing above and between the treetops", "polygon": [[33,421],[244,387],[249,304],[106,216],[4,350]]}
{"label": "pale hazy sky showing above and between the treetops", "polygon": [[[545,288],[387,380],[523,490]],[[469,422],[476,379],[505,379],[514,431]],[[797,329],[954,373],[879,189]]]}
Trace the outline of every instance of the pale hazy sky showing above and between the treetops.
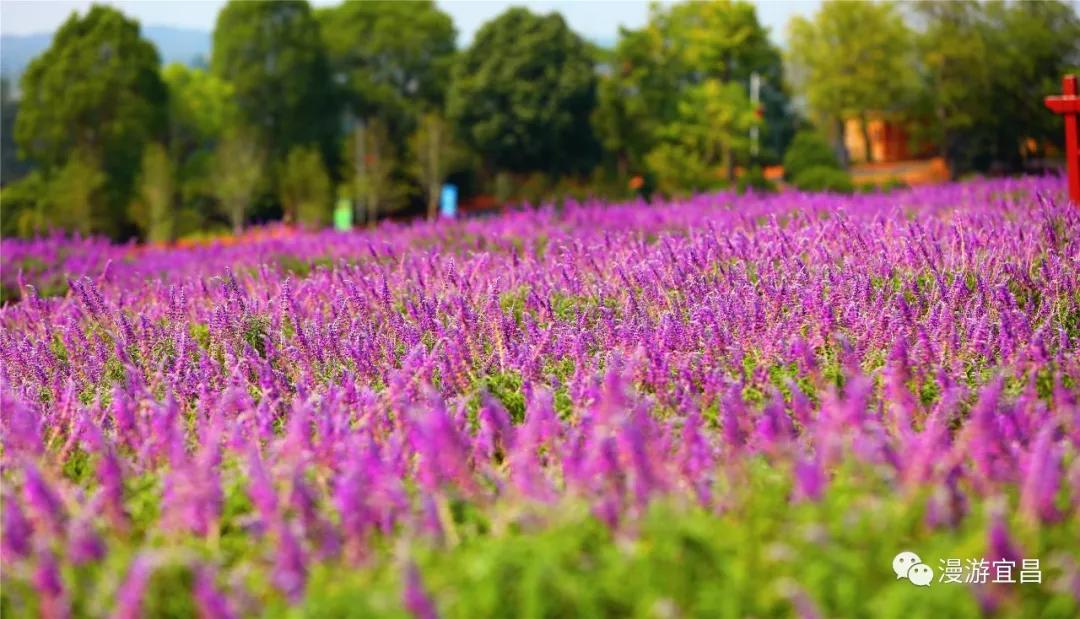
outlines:
{"label": "pale hazy sky showing above and between the treetops", "polygon": [[[100,0],[99,0],[100,1]],[[143,25],[178,26],[211,30],[224,0],[106,0]],[[336,0],[314,0],[313,4],[336,4]],[[782,41],[784,25],[792,15],[812,13],[819,0],[757,0],[758,18]],[[613,40],[619,26],[637,27],[648,17],[649,3],[635,0],[438,0],[438,6],[454,18],[459,42],[508,6],[525,5],[534,12],[561,12],[570,27],[594,40]],[[51,32],[71,11],[84,12],[90,0],[0,0],[0,32],[29,35]]]}

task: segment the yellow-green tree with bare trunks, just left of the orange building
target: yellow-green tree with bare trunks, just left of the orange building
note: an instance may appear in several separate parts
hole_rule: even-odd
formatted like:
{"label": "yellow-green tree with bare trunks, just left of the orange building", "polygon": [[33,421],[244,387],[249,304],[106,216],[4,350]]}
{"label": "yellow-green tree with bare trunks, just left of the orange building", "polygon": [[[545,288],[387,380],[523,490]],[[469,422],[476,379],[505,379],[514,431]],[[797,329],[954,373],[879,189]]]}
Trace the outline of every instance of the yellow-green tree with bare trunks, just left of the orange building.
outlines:
{"label": "yellow-green tree with bare trunks, just left of the orange building", "polygon": [[835,147],[847,161],[845,120],[903,109],[914,90],[912,36],[891,2],[826,0],[812,19],[788,23],[788,67],[796,89],[820,122],[833,125]]}

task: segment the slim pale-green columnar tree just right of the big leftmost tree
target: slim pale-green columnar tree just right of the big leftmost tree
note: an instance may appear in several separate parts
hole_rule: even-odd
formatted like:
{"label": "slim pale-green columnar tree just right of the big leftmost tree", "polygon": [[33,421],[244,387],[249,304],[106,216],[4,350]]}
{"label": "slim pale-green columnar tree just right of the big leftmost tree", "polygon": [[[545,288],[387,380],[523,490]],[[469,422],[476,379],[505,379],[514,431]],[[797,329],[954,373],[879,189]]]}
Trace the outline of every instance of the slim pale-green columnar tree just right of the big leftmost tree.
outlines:
{"label": "slim pale-green columnar tree just right of the big leftmost tree", "polygon": [[175,177],[173,161],[164,146],[151,144],[143,150],[131,217],[150,243],[167,243],[173,239]]}

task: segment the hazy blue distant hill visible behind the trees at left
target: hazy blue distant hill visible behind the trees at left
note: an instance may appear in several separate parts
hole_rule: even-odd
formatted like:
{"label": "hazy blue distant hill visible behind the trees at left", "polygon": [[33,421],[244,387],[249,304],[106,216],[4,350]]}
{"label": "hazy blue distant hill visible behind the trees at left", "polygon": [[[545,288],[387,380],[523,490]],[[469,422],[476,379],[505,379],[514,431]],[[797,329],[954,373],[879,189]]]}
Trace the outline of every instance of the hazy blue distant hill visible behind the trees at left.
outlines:
{"label": "hazy blue distant hill visible behind the trees at left", "polygon": [[[162,64],[199,65],[210,60],[211,35],[205,30],[145,26],[143,36],[158,46]],[[3,35],[0,37],[0,73],[18,83],[18,77],[38,54],[49,49],[53,36]]]}

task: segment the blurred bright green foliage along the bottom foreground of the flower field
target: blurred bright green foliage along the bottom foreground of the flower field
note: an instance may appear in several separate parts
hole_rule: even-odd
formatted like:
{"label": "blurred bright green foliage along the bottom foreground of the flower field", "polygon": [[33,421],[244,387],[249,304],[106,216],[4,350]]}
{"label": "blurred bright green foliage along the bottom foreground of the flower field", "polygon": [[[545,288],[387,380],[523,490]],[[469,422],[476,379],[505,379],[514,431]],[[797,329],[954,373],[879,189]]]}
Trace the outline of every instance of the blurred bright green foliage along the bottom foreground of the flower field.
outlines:
{"label": "blurred bright green foliage along the bottom foreground of the flower field", "polygon": [[[890,565],[902,549],[917,550],[935,568],[946,557],[989,556],[989,504],[973,502],[958,526],[929,527],[927,496],[889,493],[855,474],[856,467],[831,471],[822,500],[793,501],[783,467],[752,461],[720,482],[730,509],[657,501],[633,533],[612,533],[572,500],[546,511],[505,506],[491,522],[456,511],[460,542],[414,546],[408,559],[448,618],[983,616],[972,587],[913,587]],[[867,503],[866,496],[880,498]],[[1037,536],[1009,524],[1025,556],[1052,552],[1076,535],[1069,522]],[[1056,573],[1048,563],[1043,569]],[[396,617],[403,571],[384,562],[352,570],[316,566],[306,608]],[[1048,587],[1014,586],[1000,603],[1001,616],[1064,618],[1078,610],[1067,591]]]}

